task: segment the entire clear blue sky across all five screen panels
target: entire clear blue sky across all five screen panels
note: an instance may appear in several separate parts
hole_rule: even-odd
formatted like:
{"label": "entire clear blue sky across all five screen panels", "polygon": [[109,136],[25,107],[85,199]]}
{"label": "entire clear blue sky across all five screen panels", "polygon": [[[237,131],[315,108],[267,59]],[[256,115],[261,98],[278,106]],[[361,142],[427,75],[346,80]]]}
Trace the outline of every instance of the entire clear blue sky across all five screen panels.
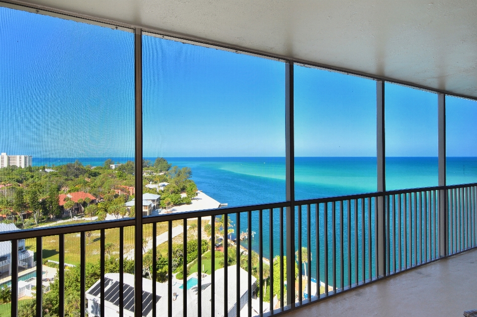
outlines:
{"label": "entire clear blue sky across all five screen panels", "polygon": [[[134,156],[134,35],[0,7],[0,151]],[[144,156],[284,156],[285,64],[143,36]],[[447,98],[447,153],[477,156]],[[437,156],[437,95],[386,84],[386,155]],[[465,136],[465,137],[463,137]],[[376,156],[376,82],[295,66],[296,156]]]}

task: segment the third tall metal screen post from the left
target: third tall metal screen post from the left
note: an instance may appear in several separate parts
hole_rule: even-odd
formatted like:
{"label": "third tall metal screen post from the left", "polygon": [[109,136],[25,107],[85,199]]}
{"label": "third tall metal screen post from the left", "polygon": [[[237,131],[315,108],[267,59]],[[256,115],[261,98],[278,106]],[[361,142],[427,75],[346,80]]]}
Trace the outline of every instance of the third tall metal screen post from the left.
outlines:
{"label": "third tall metal screen post from the left", "polygon": [[384,85],[385,82],[383,80],[378,80],[376,83],[378,192],[382,192],[382,195],[377,197],[375,206],[377,277],[386,275],[386,138]]}

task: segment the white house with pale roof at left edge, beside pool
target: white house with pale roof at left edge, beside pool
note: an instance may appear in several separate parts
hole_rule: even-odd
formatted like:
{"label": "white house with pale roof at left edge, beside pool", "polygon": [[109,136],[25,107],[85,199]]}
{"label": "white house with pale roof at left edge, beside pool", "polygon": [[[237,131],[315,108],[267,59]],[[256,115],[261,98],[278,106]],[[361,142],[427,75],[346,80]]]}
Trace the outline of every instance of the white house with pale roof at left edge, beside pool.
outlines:
{"label": "white house with pale roof at left edge, beside pool", "polygon": [[[0,223],[1,232],[19,231],[13,223]],[[33,252],[25,249],[25,239],[18,240],[18,267],[27,269],[33,267]],[[11,275],[11,242],[0,242],[0,278]]]}

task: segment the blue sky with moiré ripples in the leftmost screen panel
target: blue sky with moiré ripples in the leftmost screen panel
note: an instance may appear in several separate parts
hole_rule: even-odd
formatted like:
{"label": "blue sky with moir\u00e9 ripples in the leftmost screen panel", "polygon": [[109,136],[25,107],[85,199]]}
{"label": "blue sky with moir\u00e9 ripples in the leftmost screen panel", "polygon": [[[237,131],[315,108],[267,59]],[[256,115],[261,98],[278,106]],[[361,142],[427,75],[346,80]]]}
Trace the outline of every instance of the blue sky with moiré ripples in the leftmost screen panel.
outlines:
{"label": "blue sky with moir\u00e9 ripples in the leftmost screen panel", "polygon": [[134,155],[134,35],[0,7],[0,151]]}

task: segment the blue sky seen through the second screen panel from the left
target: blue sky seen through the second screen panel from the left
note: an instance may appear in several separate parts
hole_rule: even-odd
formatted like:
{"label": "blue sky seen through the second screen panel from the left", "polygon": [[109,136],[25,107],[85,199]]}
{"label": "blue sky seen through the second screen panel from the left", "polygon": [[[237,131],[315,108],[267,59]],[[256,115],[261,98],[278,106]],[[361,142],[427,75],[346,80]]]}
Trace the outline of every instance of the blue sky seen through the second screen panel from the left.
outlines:
{"label": "blue sky seen through the second screen panel from the left", "polygon": [[285,156],[285,64],[143,36],[144,156]]}

